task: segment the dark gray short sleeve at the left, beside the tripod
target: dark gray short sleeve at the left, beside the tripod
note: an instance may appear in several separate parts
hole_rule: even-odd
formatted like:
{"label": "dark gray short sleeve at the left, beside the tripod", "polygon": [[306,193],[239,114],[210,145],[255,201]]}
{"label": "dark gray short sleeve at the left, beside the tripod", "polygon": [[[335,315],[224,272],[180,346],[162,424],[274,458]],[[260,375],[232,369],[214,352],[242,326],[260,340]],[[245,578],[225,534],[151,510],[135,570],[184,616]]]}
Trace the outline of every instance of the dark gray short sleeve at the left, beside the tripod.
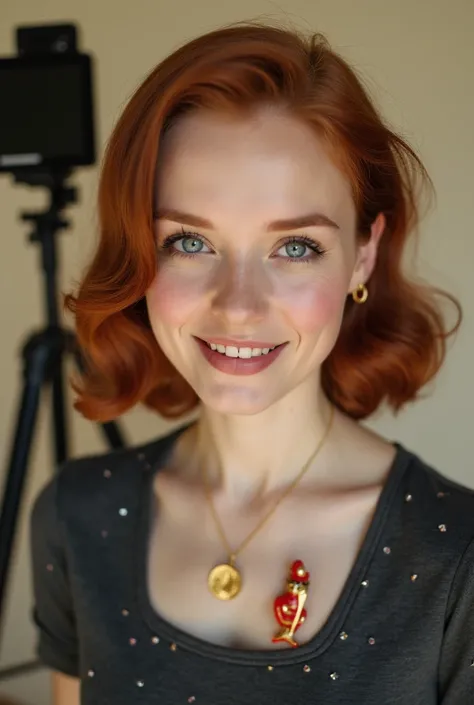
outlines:
{"label": "dark gray short sleeve at the left, beside the tripod", "polygon": [[59,486],[60,475],[56,475],[36,497],[30,516],[31,616],[38,629],[35,651],[40,661],[78,676],[78,639],[59,518]]}

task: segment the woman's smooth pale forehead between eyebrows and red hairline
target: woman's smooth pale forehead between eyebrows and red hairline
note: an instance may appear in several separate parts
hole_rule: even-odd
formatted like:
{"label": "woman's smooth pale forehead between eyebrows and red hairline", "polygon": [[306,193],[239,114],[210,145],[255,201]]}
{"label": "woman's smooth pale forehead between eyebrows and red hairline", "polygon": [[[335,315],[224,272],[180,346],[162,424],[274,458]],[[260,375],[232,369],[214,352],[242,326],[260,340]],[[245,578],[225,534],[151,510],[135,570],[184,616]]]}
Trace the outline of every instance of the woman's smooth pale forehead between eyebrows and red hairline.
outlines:
{"label": "woman's smooth pale forehead between eyebrows and red hairline", "polygon": [[276,111],[181,118],[162,142],[157,177],[160,205],[204,217],[203,209],[277,218],[321,207],[329,217],[353,218],[350,184],[322,139]]}

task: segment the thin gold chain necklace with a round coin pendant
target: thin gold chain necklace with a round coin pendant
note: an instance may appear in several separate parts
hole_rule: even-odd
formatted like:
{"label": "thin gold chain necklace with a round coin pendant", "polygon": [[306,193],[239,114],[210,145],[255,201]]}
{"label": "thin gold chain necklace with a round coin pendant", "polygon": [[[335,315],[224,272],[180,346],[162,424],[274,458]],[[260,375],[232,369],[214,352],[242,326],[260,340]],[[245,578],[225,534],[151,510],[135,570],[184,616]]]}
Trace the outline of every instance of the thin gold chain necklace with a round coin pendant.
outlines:
{"label": "thin gold chain necklace with a round coin pendant", "polygon": [[214,523],[216,525],[217,531],[219,533],[221,541],[222,541],[222,543],[226,549],[227,555],[229,557],[227,563],[221,563],[219,565],[216,565],[210,571],[209,576],[208,576],[209,589],[212,592],[212,594],[214,595],[214,597],[217,597],[218,600],[232,600],[234,597],[236,597],[239,594],[239,592],[242,588],[242,577],[241,577],[240,571],[235,566],[235,561],[237,559],[237,556],[244,550],[244,548],[247,547],[247,545],[254,538],[254,536],[256,536],[256,534],[260,531],[260,529],[262,529],[263,526],[268,522],[268,520],[273,516],[275,511],[278,509],[280,504],[283,502],[283,500],[286,499],[286,497],[288,497],[288,495],[298,485],[300,480],[302,480],[303,476],[308,471],[311,463],[313,462],[313,460],[316,458],[319,451],[323,447],[323,444],[329,435],[329,431],[331,430],[333,419],[334,419],[334,406],[331,405],[331,411],[330,411],[328,425],[326,427],[326,430],[323,433],[321,440],[319,441],[318,445],[316,446],[316,450],[311,455],[309,460],[305,463],[305,465],[300,470],[298,475],[295,477],[293,482],[281,494],[281,496],[275,502],[275,504],[273,505],[271,510],[268,512],[268,514],[266,514],[263,517],[263,519],[255,527],[255,529],[247,536],[246,539],[244,539],[244,541],[242,541],[240,546],[238,546],[235,550],[232,550],[232,548],[230,547],[229,542],[227,541],[227,537],[225,535],[225,531],[222,527],[222,523],[217,515],[216,509],[214,507],[214,502],[212,500],[209,479],[207,476],[207,470],[205,469],[205,466],[203,466],[202,474],[203,474],[203,480],[204,480],[204,488],[206,491],[206,498],[207,498],[209,508],[211,510],[211,514],[214,519]]}

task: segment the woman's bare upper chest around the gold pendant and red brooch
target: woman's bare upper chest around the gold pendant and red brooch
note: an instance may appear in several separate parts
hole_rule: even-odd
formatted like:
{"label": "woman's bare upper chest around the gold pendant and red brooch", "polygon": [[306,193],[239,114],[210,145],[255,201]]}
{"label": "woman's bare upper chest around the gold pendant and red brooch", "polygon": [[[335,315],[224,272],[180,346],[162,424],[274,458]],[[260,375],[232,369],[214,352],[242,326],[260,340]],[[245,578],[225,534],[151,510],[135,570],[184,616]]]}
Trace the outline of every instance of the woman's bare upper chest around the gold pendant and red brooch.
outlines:
{"label": "woman's bare upper chest around the gold pendant and red brooch", "polygon": [[[166,493],[165,493],[166,494]],[[287,600],[289,568],[303,560],[310,572],[299,643],[309,641],[334,609],[357,559],[380,494],[379,487],[325,499],[295,498],[237,556],[239,594],[217,599],[208,575],[228,560],[204,498],[161,497],[148,544],[148,594],[155,611],[188,634],[210,643],[247,649],[272,644],[280,631],[275,616]],[[258,524],[252,511],[227,511],[221,521],[228,542],[238,547]],[[293,600],[294,602],[294,600]],[[294,605],[291,605],[293,609]],[[296,603],[295,603],[296,604]]]}

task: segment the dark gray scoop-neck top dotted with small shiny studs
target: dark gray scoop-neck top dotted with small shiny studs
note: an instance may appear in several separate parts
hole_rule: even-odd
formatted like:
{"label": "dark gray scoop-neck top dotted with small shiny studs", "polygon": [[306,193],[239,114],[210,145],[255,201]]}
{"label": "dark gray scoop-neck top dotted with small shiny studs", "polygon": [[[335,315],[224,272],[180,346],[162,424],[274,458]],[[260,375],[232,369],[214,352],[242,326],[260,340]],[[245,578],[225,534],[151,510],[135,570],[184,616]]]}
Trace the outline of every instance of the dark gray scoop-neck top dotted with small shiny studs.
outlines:
{"label": "dark gray scoop-neck top dotted with small shiny studs", "polygon": [[180,430],[70,461],[36,499],[38,655],[82,679],[83,705],[474,703],[473,491],[397,445],[323,629],[297,649],[220,647],[147,594],[151,481]]}

